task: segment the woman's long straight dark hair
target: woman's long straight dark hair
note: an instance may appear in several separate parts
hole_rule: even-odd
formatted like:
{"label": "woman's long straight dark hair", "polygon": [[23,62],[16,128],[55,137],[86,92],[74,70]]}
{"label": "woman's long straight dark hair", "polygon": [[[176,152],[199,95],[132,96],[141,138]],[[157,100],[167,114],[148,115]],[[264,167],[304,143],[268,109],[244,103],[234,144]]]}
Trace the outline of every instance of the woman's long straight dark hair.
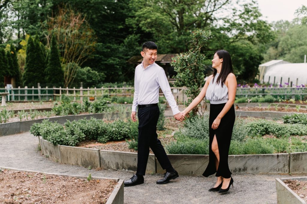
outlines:
{"label": "woman's long straight dark hair", "polygon": [[[216,83],[219,84],[221,82],[222,87],[223,87],[223,84],[225,83],[226,78],[229,75],[229,73],[233,73],[231,57],[230,57],[229,52],[227,52],[226,50],[218,50],[215,53],[217,54],[217,56],[219,56],[220,59],[223,58],[222,70],[221,70],[220,75],[216,79]],[[213,69],[213,81],[214,81],[216,73],[217,73],[217,70]]]}

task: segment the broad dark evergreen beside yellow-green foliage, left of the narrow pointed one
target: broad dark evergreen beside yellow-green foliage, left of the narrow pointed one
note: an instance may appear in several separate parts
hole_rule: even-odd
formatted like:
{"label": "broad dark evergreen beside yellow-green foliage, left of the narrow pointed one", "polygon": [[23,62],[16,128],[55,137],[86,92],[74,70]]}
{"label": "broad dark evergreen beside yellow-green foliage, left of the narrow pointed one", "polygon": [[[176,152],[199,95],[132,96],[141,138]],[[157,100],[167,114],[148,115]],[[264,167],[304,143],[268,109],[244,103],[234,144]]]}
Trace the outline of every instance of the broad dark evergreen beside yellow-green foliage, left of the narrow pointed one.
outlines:
{"label": "broad dark evergreen beside yellow-green foliage, left of the narrow pointed one", "polygon": [[[39,49],[37,49],[39,48]],[[42,61],[41,49],[36,46],[32,37],[29,37],[26,58],[25,58],[25,72],[22,79],[25,86],[37,86],[44,80],[44,62]]]}

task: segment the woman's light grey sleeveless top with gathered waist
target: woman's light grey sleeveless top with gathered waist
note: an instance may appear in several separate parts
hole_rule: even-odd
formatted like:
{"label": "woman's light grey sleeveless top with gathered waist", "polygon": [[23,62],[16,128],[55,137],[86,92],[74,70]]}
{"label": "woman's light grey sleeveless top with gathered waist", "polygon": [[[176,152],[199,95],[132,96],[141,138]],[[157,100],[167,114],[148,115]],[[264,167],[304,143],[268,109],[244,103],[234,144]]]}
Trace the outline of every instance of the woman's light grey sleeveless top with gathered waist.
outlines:
{"label": "woman's light grey sleeveless top with gathered waist", "polygon": [[211,79],[206,91],[206,99],[209,100],[211,104],[221,104],[228,101],[227,86],[223,84],[222,87],[221,82],[219,84],[216,83],[216,79],[219,75],[219,73],[216,73],[215,77]]}

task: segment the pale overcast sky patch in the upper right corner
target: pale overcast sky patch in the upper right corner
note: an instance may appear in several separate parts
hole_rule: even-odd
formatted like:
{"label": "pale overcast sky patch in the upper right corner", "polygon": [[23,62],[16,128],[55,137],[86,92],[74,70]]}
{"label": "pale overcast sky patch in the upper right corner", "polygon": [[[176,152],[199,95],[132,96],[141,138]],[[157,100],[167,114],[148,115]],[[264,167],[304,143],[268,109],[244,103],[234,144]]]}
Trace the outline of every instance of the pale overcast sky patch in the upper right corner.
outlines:
{"label": "pale overcast sky patch in the upper right corner", "polygon": [[291,21],[302,5],[307,6],[307,0],[257,0],[260,12],[268,22],[278,20]]}

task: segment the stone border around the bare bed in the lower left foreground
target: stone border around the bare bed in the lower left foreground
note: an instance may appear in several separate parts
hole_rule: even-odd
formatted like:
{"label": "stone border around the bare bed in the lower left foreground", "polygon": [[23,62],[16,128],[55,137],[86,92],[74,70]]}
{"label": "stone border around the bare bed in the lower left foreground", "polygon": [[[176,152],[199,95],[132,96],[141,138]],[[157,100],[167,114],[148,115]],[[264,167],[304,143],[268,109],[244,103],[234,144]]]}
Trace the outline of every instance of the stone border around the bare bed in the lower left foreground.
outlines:
{"label": "stone border around the bare bed in the lower left foreground", "polygon": [[[48,175],[59,175],[59,176],[67,176],[67,177],[76,177],[79,179],[87,179],[86,176],[79,176],[79,175],[67,175],[67,174],[56,174],[56,173],[47,173],[42,171],[30,171],[30,170],[24,170],[24,169],[17,169],[17,168],[10,168],[10,167],[1,167],[0,169],[8,169],[12,171],[26,171],[31,173],[44,173]],[[115,178],[107,178],[107,177],[91,177],[92,179],[98,180],[98,179],[110,179],[115,180],[117,182],[117,185],[113,189],[111,195],[109,196],[106,204],[123,204],[124,203],[124,180],[123,179],[115,179]]]}

